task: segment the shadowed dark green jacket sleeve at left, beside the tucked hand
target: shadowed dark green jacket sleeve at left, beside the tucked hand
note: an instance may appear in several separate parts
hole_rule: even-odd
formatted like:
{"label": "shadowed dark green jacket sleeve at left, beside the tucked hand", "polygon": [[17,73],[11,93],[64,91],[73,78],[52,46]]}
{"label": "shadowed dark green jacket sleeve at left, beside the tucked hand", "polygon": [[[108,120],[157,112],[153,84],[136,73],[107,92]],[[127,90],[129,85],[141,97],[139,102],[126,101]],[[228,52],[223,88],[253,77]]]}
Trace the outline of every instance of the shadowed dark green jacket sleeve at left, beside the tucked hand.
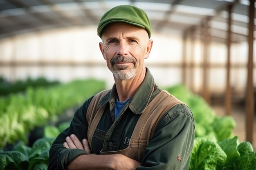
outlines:
{"label": "shadowed dark green jacket sleeve at left, beside the tucked hand", "polygon": [[70,127],[61,132],[52,144],[49,150],[48,170],[64,170],[73,159],[79,155],[88,154],[81,149],[67,149],[63,146],[65,138],[75,134],[80,141],[87,139],[88,123],[86,121],[86,112],[92,97],[88,99],[74,114]]}

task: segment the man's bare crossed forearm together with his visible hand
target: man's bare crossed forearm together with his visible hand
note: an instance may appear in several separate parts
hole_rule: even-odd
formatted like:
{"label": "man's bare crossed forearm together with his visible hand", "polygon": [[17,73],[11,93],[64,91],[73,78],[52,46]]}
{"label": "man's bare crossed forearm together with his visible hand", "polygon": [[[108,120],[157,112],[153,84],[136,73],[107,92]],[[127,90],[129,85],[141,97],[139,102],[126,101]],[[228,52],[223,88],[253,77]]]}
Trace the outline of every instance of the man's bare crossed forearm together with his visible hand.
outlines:
{"label": "man's bare crossed forearm together with his visible hand", "polygon": [[140,166],[138,161],[130,159],[124,155],[95,155],[90,153],[90,147],[87,139],[83,139],[82,143],[72,134],[66,137],[63,146],[69,149],[81,149],[89,153],[89,155],[80,155],[68,164],[66,170],[135,170]]}

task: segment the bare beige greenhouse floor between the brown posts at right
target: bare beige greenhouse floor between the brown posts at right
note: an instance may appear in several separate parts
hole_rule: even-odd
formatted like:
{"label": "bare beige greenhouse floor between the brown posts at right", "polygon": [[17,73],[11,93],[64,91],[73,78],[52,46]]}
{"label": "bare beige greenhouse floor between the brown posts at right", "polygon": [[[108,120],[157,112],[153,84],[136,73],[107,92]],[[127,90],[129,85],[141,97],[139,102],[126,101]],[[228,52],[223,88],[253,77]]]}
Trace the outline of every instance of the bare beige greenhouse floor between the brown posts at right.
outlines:
{"label": "bare beige greenhouse floor between the brown posts at right", "polygon": [[[225,107],[221,105],[213,105],[211,106],[217,115],[224,116],[225,115]],[[245,130],[245,107],[243,106],[232,106],[231,115],[234,117],[236,121],[236,128],[234,129],[234,135],[238,136],[240,142],[246,140],[246,130]],[[254,130],[253,130],[253,147],[256,150],[256,115],[254,115]]]}

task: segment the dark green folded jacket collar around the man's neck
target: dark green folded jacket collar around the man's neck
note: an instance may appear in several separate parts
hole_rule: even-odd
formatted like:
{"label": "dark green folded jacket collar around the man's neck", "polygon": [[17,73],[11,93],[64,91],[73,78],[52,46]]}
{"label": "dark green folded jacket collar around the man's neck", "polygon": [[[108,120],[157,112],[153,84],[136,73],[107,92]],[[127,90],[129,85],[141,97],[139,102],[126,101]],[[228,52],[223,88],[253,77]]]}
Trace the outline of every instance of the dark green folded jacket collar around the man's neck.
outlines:
{"label": "dark green folded jacket collar around the man's neck", "polygon": [[[154,86],[155,86],[154,78],[151,75],[148,68],[146,68],[146,76],[144,80],[142,81],[135,95],[129,101],[129,108],[130,110],[132,110],[133,113],[141,114],[145,110],[150,100],[150,97],[154,91]],[[116,85],[114,84],[114,86],[112,87],[112,90],[102,97],[97,107],[101,107],[107,102],[109,102],[110,111],[112,111],[115,105],[116,94],[117,94],[117,88],[116,88]]]}

